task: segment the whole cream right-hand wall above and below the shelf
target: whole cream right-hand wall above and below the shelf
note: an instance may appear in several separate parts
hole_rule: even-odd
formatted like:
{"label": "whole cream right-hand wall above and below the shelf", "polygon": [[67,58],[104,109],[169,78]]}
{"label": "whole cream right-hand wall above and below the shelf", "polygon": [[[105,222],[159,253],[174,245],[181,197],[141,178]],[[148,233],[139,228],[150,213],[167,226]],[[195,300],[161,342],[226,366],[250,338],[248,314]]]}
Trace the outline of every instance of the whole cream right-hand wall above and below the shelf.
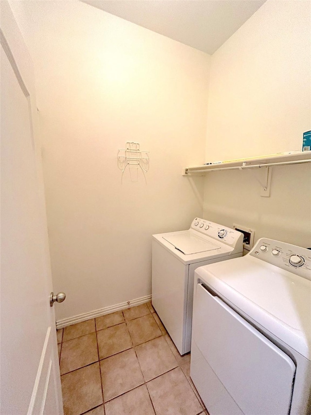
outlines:
{"label": "whole cream right-hand wall above and below the shelf", "polygon": [[[311,3],[267,1],[212,56],[206,161],[299,150],[311,129]],[[270,198],[258,170],[207,174],[204,217],[311,246],[311,169],[274,167]]]}

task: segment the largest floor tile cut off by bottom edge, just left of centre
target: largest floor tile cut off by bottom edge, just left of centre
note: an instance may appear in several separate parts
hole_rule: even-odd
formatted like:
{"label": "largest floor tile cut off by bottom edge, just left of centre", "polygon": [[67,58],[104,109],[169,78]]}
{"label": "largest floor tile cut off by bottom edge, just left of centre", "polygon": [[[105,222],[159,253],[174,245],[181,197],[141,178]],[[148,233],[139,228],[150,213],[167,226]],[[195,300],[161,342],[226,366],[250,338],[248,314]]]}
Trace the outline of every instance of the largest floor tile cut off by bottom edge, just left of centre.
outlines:
{"label": "largest floor tile cut off by bottom edge, just left of centre", "polygon": [[146,385],[105,403],[106,415],[155,415]]}

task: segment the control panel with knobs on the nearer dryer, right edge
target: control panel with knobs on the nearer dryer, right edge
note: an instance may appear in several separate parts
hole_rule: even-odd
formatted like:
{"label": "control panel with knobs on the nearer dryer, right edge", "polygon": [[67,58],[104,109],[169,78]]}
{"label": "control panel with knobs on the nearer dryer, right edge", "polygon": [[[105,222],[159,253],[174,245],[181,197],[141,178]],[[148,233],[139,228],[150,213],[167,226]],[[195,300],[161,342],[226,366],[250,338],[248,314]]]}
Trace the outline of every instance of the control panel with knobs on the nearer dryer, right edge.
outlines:
{"label": "control panel with knobs on the nearer dryer, right edge", "polygon": [[311,280],[311,250],[261,238],[248,255]]}

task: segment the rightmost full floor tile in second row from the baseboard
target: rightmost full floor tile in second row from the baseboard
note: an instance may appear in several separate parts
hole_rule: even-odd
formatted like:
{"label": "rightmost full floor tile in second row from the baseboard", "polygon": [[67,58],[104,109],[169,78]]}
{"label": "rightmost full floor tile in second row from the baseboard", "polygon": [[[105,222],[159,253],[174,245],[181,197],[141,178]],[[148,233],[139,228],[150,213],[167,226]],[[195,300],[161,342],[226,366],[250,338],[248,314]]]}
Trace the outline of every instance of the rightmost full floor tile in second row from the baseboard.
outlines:
{"label": "rightmost full floor tile in second row from the baseboard", "polygon": [[162,335],[161,330],[153,318],[153,315],[149,313],[146,316],[139,317],[138,319],[129,321],[127,323],[134,346],[138,344],[148,342]]}

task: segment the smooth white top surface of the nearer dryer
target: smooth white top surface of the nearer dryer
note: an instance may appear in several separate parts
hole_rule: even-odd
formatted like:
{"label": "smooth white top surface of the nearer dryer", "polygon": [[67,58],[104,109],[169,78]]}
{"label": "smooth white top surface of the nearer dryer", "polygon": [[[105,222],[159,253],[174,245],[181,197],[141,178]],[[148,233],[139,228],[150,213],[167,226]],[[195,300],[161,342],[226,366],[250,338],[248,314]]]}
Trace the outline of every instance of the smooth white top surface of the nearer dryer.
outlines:
{"label": "smooth white top surface of the nearer dryer", "polygon": [[311,360],[310,280],[250,254],[195,272],[233,308]]}

